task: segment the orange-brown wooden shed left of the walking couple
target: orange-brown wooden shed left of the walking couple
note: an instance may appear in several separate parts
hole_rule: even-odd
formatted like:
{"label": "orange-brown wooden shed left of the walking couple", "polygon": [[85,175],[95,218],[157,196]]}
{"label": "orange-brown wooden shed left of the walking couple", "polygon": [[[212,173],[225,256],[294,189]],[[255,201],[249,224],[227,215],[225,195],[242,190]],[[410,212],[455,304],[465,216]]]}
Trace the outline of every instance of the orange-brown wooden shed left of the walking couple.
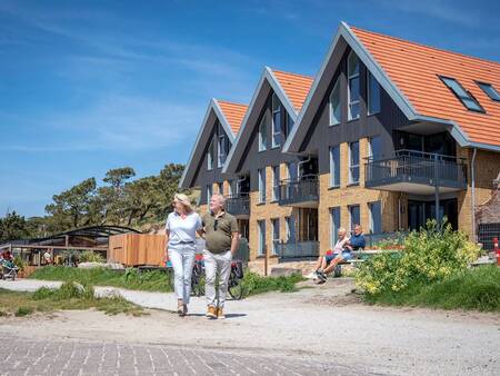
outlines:
{"label": "orange-brown wooden shed left of the walking couple", "polygon": [[124,266],[164,266],[164,236],[122,234],[109,238],[108,261]]}

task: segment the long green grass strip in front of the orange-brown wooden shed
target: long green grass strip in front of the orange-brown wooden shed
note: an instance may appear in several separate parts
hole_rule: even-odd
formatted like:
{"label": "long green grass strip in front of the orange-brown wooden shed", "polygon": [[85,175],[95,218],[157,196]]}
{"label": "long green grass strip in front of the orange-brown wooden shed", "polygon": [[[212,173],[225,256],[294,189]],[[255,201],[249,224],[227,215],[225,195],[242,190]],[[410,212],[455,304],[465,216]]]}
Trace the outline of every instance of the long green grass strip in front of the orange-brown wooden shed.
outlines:
{"label": "long green grass strip in front of the orange-brown wooden shed", "polygon": [[38,268],[32,279],[43,280],[74,280],[88,286],[112,286],[131,290],[169,293],[172,290],[169,275],[164,271],[143,271],[129,268],[118,271],[108,268],[68,268],[62,266],[46,266]]}

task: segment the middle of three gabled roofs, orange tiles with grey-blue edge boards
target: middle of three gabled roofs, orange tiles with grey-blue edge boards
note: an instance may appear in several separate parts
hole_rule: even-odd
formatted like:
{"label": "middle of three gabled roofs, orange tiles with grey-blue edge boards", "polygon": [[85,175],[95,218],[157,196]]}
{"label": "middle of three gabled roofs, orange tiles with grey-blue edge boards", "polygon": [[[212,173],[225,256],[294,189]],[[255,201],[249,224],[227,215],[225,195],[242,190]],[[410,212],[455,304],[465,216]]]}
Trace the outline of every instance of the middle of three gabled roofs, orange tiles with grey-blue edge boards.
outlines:
{"label": "middle of three gabled roofs, orange tiles with grey-blue edge boards", "polygon": [[237,159],[242,156],[242,152],[250,140],[252,129],[257,125],[257,119],[267,98],[267,93],[269,92],[268,90],[272,89],[274,91],[287,112],[292,120],[296,121],[309,89],[311,88],[312,81],[312,77],[309,76],[284,72],[264,67],[247,113],[244,115],[234,146],[231,148],[222,168],[222,174],[236,170],[239,162]]}

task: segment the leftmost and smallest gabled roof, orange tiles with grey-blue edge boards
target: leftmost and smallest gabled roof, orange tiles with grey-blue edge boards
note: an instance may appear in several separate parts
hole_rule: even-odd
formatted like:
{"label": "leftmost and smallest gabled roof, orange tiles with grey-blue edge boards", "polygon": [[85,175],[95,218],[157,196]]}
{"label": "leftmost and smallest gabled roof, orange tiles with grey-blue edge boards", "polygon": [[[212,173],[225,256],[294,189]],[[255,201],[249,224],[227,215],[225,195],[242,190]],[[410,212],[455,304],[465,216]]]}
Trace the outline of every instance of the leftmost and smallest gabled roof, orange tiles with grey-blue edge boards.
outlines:
{"label": "leftmost and smallest gabled roof, orange tiles with grey-blue edge boards", "polygon": [[[190,188],[192,179],[196,176],[198,165],[204,157],[204,149],[207,142],[210,141],[211,126],[216,118],[222,125],[229,140],[234,146],[236,135],[238,133],[244,112],[247,111],[246,105],[233,103],[229,101],[217,100],[212,98],[207,108],[207,112],[201,123],[200,130],[194,141],[194,146],[189,156],[188,164],[184,167],[182,177],[179,181],[179,188]],[[231,148],[233,149],[233,147]]]}

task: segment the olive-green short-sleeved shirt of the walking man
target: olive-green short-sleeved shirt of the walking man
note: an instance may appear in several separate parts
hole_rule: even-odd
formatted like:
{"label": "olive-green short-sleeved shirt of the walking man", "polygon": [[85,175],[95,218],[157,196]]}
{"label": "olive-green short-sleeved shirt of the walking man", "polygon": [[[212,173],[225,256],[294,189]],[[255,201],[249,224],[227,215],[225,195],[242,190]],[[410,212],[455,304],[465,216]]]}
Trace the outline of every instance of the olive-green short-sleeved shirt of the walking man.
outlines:
{"label": "olive-green short-sleeved shirt of the walking man", "polygon": [[213,215],[206,214],[202,221],[208,250],[213,254],[222,254],[231,249],[232,232],[239,231],[238,222],[233,216],[224,211],[216,219]]}

